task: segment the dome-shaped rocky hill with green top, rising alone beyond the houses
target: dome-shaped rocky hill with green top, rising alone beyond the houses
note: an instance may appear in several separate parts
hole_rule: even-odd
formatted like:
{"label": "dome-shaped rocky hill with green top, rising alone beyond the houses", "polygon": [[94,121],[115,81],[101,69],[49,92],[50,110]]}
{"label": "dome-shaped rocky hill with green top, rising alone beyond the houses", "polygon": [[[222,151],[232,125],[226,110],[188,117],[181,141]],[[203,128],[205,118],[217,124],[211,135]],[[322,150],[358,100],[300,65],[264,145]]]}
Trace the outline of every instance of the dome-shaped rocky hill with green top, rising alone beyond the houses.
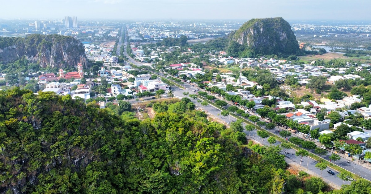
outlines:
{"label": "dome-shaped rocky hill with green top, rising alone beyond the houses", "polygon": [[230,33],[230,40],[252,48],[256,54],[295,54],[298,41],[282,17],[252,19]]}

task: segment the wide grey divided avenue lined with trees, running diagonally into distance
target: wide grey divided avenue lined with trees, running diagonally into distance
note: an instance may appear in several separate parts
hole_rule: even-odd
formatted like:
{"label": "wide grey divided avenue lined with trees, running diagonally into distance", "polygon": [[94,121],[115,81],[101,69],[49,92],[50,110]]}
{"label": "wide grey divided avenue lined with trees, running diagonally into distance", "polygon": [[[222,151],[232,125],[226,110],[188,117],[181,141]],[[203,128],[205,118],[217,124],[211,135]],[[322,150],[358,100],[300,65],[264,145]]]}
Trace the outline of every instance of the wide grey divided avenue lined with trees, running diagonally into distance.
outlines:
{"label": "wide grey divided avenue lined with trees, running diagonally into distance", "polygon": [[[126,27],[125,27],[125,30],[126,30]],[[126,32],[126,31],[125,31]],[[127,38],[126,38],[126,35],[124,36],[124,45],[127,45]],[[124,55],[126,55],[128,58],[129,58],[129,61],[132,62],[133,64],[137,65],[137,66],[142,66],[142,65],[150,65],[150,64],[142,64],[142,63],[139,63],[133,59],[131,59],[127,52],[126,52],[126,46],[124,47]],[[164,76],[163,74],[160,73],[161,76]],[[183,95],[183,92],[189,92],[189,94],[197,94],[197,91],[196,92],[193,92],[193,90],[196,89],[195,86],[192,86],[191,84],[188,84],[188,83],[184,83],[184,88],[185,89],[181,89],[181,88],[178,88],[177,86],[173,86],[171,88],[171,90],[173,91],[174,93],[174,96],[180,96],[180,97],[184,97]],[[202,89],[200,89],[202,90]],[[204,91],[204,90],[203,90]],[[188,94],[188,95],[189,95]],[[192,102],[194,102],[196,104],[197,107],[199,108],[202,108],[202,105],[200,103],[198,103],[196,100],[192,100]],[[220,120],[224,120],[224,122],[233,122],[236,120],[236,118],[234,118],[233,116],[228,116],[227,118],[224,118],[223,116],[221,116],[221,110],[219,108],[216,108],[214,107],[213,105],[208,105],[206,107],[203,107],[204,110],[207,111],[207,114],[209,115],[213,115],[215,118],[218,118]],[[264,120],[262,120],[264,121]],[[243,123],[243,125],[245,126],[246,124]],[[264,128],[264,127],[263,127]],[[271,132],[275,133],[276,135],[279,135],[278,133],[278,127],[276,127],[276,129],[272,129]],[[246,133],[246,135],[248,136],[249,135],[249,132],[247,131],[244,131]],[[259,142],[259,136],[257,136],[257,131],[254,130],[250,133],[250,139],[253,139],[255,140],[256,142]],[[267,143],[267,140],[265,140],[263,142],[263,144],[268,144]],[[279,145],[280,143],[277,142],[276,145]],[[286,162],[289,163],[289,164],[292,164],[292,163],[295,163],[297,165],[300,164],[300,158],[295,156],[295,150],[293,149],[289,149],[288,150],[289,154],[285,154],[286,157]],[[328,159],[328,155],[324,156],[325,159]],[[303,168],[303,170],[306,169],[306,164],[308,163],[308,171],[310,171],[312,174],[316,174],[318,177],[321,175],[321,171],[319,169],[317,169],[315,167],[315,164],[317,163],[316,160],[312,159],[312,158],[309,158],[308,160],[308,157],[303,157],[303,161],[302,161],[302,166],[305,166],[305,168]],[[344,169],[347,169],[355,174],[358,174],[359,176],[361,177],[364,177],[368,180],[371,180],[371,177],[370,177],[370,174],[371,174],[371,171],[370,169],[357,169],[356,168],[356,165],[354,163],[351,163],[351,164],[348,164],[347,161],[344,159],[344,158],[341,158],[340,160],[336,161],[336,164],[338,164],[339,166],[343,167]],[[360,167],[360,166],[357,166],[357,167]],[[326,173],[326,170],[327,169],[330,169],[332,171],[334,171],[335,175],[331,175],[329,173]],[[326,181],[327,183],[329,184],[334,184],[336,187],[341,187],[341,185],[343,184],[343,181],[338,178],[336,175],[338,174],[339,172],[335,171],[334,169],[331,169],[331,168],[326,168],[325,170],[322,171],[322,178],[324,181]],[[349,181],[345,181],[344,184],[350,184]]]}

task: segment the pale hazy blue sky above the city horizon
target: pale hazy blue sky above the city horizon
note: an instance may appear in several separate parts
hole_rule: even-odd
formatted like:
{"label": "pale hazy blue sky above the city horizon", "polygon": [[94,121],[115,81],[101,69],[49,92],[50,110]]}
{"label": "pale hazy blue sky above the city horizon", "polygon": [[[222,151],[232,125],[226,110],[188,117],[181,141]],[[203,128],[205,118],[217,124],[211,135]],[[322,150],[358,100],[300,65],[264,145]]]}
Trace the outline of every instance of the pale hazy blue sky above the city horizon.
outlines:
{"label": "pale hazy blue sky above the city horizon", "polygon": [[371,20],[371,0],[1,0],[0,18]]}

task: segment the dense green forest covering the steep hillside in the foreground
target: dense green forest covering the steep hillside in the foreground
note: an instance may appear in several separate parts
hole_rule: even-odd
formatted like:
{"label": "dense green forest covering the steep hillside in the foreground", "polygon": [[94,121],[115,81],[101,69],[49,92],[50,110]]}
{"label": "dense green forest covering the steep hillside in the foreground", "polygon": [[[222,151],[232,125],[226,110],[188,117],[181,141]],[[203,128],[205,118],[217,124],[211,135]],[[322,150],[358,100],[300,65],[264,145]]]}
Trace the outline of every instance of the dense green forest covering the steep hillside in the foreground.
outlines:
{"label": "dense green forest covering the steep hillside in the foreground", "polygon": [[[0,91],[0,193],[313,193],[326,184],[285,171],[278,146],[246,144],[188,98],[151,102],[153,119],[69,95]],[[365,193],[356,181],[334,194]]]}

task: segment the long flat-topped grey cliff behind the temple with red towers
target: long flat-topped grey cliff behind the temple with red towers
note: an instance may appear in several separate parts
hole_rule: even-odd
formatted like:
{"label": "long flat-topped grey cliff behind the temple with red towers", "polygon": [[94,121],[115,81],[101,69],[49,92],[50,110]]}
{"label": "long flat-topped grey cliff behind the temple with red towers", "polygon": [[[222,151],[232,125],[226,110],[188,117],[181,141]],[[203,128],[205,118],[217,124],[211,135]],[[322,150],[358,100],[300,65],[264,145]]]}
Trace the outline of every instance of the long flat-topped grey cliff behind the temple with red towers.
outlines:
{"label": "long flat-topped grey cliff behind the temple with red towers", "polygon": [[[5,42],[5,43],[4,43]],[[75,38],[60,35],[27,35],[16,41],[2,39],[0,62],[7,64],[25,56],[41,67],[76,67],[81,63],[86,67],[87,58],[82,43]]]}

